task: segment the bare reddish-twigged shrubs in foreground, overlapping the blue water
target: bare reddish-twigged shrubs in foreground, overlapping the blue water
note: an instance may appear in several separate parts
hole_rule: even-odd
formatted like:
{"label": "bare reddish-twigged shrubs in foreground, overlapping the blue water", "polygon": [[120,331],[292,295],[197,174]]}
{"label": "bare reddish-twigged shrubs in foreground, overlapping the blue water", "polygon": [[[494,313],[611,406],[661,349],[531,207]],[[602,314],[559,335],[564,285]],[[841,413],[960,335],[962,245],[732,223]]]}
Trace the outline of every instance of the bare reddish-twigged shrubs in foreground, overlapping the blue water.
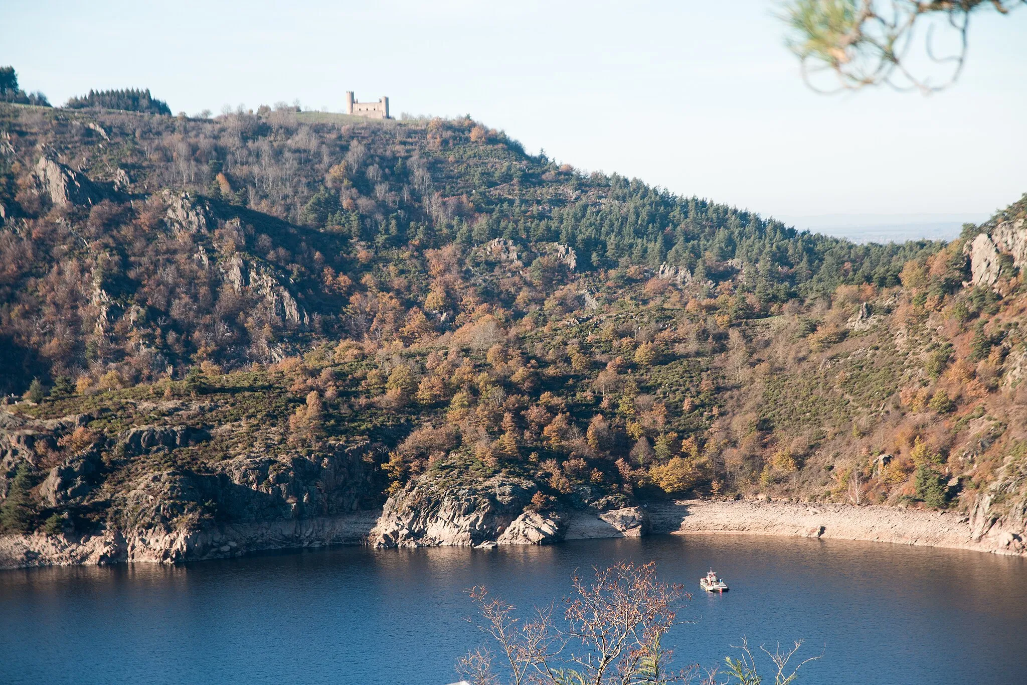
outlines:
{"label": "bare reddish-twigged shrubs in foreground, overlapping the blue water", "polygon": [[[697,664],[675,670],[673,653],[661,641],[676,619],[677,609],[691,599],[679,584],[656,578],[655,563],[636,566],[620,562],[596,571],[592,582],[575,574],[574,597],[564,600],[563,620],[554,619],[553,605],[536,609],[522,621],[516,607],[492,597],[484,587],[470,591],[484,618],[481,629],[499,645],[497,657],[479,648],[462,657],[457,672],[473,685],[663,685],[720,681],[716,670]],[[792,683],[806,659],[790,674],[788,661],[799,648],[770,653],[775,685]],[[740,659],[727,659],[726,675],[740,685],[761,682],[756,662],[744,640]],[[762,648],[761,648],[762,649]],[[494,668],[498,660],[498,669]],[[819,658],[819,657],[814,657]],[[497,670],[501,673],[497,673]],[[505,679],[505,680],[504,680]],[[733,681],[732,681],[733,682]]]}

